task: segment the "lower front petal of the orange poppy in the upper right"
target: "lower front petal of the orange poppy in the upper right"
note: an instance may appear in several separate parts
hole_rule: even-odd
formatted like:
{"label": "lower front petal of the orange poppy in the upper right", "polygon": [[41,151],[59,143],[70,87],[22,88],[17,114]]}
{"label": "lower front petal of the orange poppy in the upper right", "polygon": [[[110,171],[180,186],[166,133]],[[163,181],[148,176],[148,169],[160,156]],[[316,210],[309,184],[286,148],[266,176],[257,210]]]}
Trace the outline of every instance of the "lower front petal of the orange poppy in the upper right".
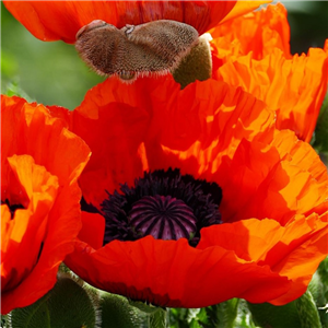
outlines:
{"label": "lower front petal of the orange poppy in the upper right", "polygon": [[251,54],[227,59],[215,78],[262,99],[276,110],[279,129],[291,129],[308,142],[327,91],[327,65],[321,49],[312,48],[307,56],[292,59],[276,49],[261,60],[251,59]]}

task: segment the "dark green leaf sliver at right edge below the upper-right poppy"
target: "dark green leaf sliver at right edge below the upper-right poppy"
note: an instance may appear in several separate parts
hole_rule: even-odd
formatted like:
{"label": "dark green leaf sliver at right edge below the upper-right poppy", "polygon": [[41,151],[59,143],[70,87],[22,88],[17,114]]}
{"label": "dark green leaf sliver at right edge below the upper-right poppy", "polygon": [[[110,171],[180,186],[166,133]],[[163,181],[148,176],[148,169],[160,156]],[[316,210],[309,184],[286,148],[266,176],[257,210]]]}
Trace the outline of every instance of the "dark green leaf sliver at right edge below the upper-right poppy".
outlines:
{"label": "dark green leaf sliver at right edge below the upper-right poppy", "polygon": [[319,152],[328,152],[328,93],[320,108],[313,147]]}

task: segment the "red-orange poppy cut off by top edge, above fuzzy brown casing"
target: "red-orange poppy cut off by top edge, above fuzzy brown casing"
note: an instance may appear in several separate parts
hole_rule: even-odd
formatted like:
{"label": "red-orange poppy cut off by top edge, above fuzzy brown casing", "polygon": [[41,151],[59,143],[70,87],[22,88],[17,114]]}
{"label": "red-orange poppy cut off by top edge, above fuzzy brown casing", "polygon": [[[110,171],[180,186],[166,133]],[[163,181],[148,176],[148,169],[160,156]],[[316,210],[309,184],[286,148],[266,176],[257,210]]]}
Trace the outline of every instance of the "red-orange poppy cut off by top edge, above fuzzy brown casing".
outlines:
{"label": "red-orange poppy cut off by top edge, above fuzzy brown casing", "polygon": [[156,20],[173,20],[194,26],[200,34],[227,14],[233,17],[271,0],[3,0],[7,9],[42,40],[74,43],[78,31],[94,20],[120,28]]}

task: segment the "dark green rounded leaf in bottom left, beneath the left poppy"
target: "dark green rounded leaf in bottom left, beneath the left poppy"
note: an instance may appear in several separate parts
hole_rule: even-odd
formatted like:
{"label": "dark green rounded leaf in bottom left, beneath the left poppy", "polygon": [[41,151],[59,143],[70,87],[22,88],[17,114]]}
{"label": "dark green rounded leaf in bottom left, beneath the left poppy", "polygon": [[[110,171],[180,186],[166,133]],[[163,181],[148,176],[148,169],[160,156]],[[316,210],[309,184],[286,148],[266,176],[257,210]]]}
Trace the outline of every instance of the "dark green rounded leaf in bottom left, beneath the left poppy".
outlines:
{"label": "dark green rounded leaf in bottom left, beneath the left poppy", "polygon": [[11,314],[12,328],[94,328],[95,309],[86,291],[69,277],[44,297]]}

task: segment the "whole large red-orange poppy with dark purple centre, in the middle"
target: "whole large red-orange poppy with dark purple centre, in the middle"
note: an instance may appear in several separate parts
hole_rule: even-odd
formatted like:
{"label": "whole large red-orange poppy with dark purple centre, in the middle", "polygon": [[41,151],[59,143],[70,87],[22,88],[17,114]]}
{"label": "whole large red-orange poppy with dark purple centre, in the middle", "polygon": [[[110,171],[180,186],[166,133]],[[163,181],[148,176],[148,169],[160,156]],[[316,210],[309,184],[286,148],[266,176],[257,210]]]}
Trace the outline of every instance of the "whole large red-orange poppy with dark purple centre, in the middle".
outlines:
{"label": "whole large red-orange poppy with dark purple centre, in the middle", "polygon": [[265,103],[213,80],[113,78],[50,112],[93,153],[66,258],[82,279],[171,307],[305,292],[328,253],[327,172]]}

